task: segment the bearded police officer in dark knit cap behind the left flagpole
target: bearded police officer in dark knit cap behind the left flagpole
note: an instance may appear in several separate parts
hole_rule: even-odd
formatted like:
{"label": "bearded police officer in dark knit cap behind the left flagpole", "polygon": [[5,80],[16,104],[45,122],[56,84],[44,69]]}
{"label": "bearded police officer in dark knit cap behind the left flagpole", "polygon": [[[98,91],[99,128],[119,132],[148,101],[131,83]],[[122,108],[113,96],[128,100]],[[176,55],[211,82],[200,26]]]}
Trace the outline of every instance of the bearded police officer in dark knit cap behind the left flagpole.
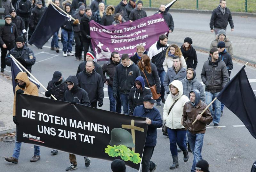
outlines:
{"label": "bearded police officer in dark knit cap behind the left flagpole", "polygon": [[12,54],[12,56],[15,57],[15,59],[17,59],[31,73],[31,67],[35,64],[36,57],[33,51],[25,46],[25,41],[22,36],[18,36],[16,39],[16,47],[7,54],[5,58],[7,66],[11,66],[10,54]]}

